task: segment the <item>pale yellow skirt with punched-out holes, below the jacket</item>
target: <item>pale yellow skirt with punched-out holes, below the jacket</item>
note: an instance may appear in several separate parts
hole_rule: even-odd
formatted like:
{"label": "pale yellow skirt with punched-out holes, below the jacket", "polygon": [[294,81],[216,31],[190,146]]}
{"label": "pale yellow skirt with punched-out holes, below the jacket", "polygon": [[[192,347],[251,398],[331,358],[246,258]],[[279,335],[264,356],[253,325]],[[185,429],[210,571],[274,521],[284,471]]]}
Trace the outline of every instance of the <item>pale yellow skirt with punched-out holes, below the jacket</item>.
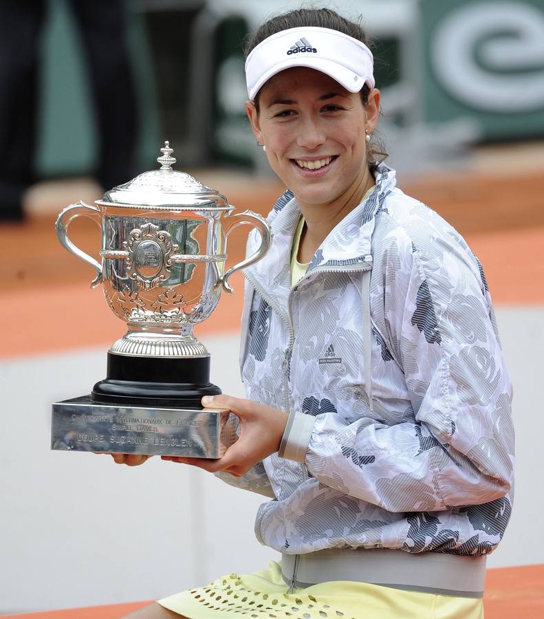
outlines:
{"label": "pale yellow skirt with punched-out holes, below the jacket", "polygon": [[483,619],[481,598],[457,598],[337,580],[287,593],[281,563],[230,574],[158,603],[190,619]]}

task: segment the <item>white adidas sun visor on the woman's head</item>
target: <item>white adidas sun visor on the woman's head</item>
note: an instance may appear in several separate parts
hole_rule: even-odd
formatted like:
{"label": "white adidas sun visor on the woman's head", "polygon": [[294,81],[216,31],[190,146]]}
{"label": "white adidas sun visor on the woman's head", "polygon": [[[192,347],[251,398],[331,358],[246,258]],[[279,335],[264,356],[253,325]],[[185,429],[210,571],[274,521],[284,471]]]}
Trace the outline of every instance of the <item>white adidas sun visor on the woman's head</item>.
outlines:
{"label": "white adidas sun visor on the woman's head", "polygon": [[261,41],[246,59],[250,100],[276,73],[290,67],[309,67],[327,74],[349,92],[367,83],[374,87],[372,52],[357,39],[330,28],[290,28]]}

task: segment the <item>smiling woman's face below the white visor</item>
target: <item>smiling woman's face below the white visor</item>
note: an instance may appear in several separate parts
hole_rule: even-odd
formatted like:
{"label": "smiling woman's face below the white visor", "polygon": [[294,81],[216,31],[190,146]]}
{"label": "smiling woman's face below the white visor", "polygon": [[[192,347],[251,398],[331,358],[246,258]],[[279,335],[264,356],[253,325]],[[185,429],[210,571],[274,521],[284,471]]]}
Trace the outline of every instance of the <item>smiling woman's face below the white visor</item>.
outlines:
{"label": "smiling woman's face below the white visor", "polygon": [[369,179],[365,129],[372,133],[380,109],[374,89],[369,105],[324,73],[293,67],[261,89],[259,113],[246,103],[257,140],[270,166],[303,204],[349,197]]}

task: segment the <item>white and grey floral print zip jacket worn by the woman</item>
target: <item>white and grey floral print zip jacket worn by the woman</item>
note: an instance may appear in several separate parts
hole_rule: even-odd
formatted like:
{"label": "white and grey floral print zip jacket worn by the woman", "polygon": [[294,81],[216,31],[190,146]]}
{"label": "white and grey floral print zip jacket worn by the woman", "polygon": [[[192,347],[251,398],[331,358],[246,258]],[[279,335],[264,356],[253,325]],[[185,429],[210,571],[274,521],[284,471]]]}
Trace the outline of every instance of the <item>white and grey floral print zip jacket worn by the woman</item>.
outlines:
{"label": "white and grey floral print zip jacket worn by the woman", "polygon": [[[272,248],[246,270],[240,360],[248,398],[315,418],[305,461],[274,454],[220,477],[272,497],[255,532],[279,552],[491,552],[512,508],[514,431],[478,259],[383,164],[292,288],[299,217],[286,191],[268,216]],[[248,252],[256,243],[254,233]],[[373,410],[362,336],[370,268]]]}

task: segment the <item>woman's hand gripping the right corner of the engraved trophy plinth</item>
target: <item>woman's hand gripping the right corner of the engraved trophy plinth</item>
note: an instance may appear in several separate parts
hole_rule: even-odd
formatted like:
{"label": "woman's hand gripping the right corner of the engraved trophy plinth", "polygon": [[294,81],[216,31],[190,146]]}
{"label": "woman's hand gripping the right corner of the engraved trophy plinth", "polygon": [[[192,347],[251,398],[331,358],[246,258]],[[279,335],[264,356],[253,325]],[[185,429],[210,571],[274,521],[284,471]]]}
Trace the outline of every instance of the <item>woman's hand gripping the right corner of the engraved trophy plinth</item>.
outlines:
{"label": "woman's hand gripping the right corner of the engraved trophy plinth", "polygon": [[232,398],[230,395],[205,395],[202,406],[207,409],[229,409],[239,417],[240,435],[219,459],[162,456],[163,460],[192,464],[210,473],[224,470],[240,477],[257,462],[279,450],[287,424],[287,413],[271,406]]}

